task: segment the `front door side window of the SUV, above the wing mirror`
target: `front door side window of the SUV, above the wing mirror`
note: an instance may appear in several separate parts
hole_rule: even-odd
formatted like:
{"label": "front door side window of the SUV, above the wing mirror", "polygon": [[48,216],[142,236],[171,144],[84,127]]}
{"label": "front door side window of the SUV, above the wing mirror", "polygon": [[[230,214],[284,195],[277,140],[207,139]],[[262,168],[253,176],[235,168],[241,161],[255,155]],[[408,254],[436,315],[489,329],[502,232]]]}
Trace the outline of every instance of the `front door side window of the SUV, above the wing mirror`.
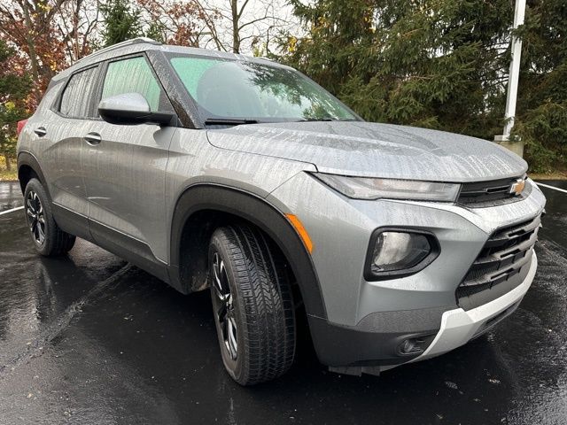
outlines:
{"label": "front door side window of the SUV, above the wing mirror", "polygon": [[170,109],[165,93],[151,73],[151,67],[145,58],[129,58],[111,62],[106,71],[102,98],[139,93],[150,104],[152,112]]}

